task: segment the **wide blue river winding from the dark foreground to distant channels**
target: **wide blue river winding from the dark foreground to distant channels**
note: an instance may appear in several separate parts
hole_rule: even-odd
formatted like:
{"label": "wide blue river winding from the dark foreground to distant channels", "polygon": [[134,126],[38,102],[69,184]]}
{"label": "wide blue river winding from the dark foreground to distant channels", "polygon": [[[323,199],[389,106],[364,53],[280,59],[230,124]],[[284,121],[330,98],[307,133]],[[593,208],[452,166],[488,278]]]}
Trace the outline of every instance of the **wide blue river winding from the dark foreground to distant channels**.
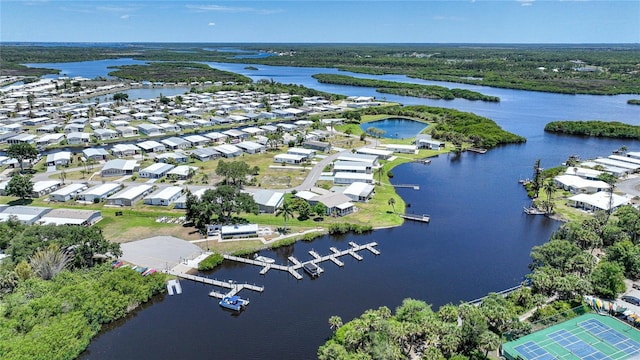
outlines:
{"label": "wide blue river winding from the dark foreground to distant channels", "polygon": [[[250,64],[211,65],[254,80],[274,79],[345,95],[380,97],[372,89],[319,84],[310,77],[315,73],[338,73],[335,69],[254,65],[259,70],[250,71],[244,69]],[[61,66],[73,70],[70,64]],[[95,74],[83,76],[94,77],[104,66],[96,62]],[[109,326],[82,358],[314,358],[317,347],[331,334],[327,320],[332,315],[347,321],[368,308],[395,308],[406,297],[424,299],[437,307],[517,285],[528,272],[531,247],[547,241],[558,226],[544,217],[522,213],[522,206],[529,200],[517,180],[532,175],[534,161],[542,159],[544,167],[551,167],[572,154],[583,158],[601,156],[621,145],[640,149],[636,141],[563,137],[543,131],[547,122],[565,119],[640,124],[638,109],[626,105],[633,96],[556,95],[396,75],[352,75],[468,88],[499,96],[502,101],[497,104],[389,95],[386,98],[471,111],[494,119],[528,141],[484,155],[443,155],[431,165],[410,163],[394,169],[395,183],[420,185],[420,191],[398,189],[398,193],[410,204],[409,212],[430,214],[429,224],[407,222],[367,235],[326,236],[312,243],[263,252],[286,263],[292,254],[301,260],[309,259],[311,249],[326,254],[329,247],[346,248],[349,241],[376,241],[380,256],[363,252],[361,262],[344,257],[344,268],[327,263],[323,266],[325,273],[318,279],[305,277],[301,281],[273,270],[260,276],[257,267],[225,263],[210,275],[265,286],[262,294],[242,294],[252,302],[240,315],[220,309],[207,296],[209,287],[182,281],[182,295],[158,296],[127,319]]]}

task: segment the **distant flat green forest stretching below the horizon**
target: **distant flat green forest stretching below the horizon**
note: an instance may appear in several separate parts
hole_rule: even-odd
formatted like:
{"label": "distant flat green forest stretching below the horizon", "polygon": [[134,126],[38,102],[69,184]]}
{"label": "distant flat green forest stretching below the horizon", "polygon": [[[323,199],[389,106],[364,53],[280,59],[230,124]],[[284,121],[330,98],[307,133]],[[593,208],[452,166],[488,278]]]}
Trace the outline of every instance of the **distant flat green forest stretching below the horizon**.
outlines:
{"label": "distant flat green forest stretching below the horizon", "polygon": [[[226,52],[211,51],[215,44],[124,46],[136,60],[246,62]],[[241,48],[295,51],[293,56],[251,59],[256,64],[405,74],[427,80],[570,94],[640,93],[640,79],[635,74],[640,48],[634,45],[260,44]],[[113,59],[121,54],[121,47],[5,44],[0,47],[0,72],[16,69],[21,63]]]}

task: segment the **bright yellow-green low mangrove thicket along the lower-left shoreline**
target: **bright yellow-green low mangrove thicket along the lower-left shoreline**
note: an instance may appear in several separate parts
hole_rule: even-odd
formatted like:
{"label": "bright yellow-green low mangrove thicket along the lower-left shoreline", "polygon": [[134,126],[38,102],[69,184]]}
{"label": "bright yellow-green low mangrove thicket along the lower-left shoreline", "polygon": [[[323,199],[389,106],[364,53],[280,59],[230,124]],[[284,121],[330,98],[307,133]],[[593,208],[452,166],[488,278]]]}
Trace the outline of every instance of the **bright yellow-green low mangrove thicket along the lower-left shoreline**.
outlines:
{"label": "bright yellow-green low mangrove thicket along the lower-left shoreline", "polygon": [[143,277],[109,265],[21,279],[1,299],[0,357],[74,359],[103,324],[148,301],[164,281],[159,273]]}

